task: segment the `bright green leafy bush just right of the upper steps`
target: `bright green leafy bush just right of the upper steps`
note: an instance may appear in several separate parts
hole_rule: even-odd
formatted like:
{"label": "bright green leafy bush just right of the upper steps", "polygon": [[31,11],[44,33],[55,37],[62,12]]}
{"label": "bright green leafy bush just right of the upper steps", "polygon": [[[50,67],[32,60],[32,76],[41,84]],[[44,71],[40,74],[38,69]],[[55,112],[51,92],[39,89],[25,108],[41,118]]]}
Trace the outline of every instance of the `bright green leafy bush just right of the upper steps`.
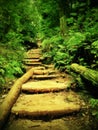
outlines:
{"label": "bright green leafy bush just right of the upper steps", "polygon": [[84,40],[85,35],[79,32],[70,34],[66,40],[56,35],[43,41],[42,50],[45,56],[50,57],[50,61],[52,60],[55,66],[62,70],[77,60],[78,50],[83,46]]}

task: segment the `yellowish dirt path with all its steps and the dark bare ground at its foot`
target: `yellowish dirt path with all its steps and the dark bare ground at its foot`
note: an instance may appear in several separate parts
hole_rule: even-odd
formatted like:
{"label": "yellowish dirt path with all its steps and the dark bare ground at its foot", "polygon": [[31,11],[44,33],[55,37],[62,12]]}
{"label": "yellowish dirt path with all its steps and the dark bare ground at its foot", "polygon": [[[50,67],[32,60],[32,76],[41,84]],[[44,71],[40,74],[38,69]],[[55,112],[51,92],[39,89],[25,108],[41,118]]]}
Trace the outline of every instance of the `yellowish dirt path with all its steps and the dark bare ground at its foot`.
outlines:
{"label": "yellowish dirt path with all its steps and the dark bare ground at its foot", "polygon": [[[26,71],[34,67],[34,74],[22,85],[4,130],[98,130],[89,94],[70,89],[74,85],[70,75],[43,64],[40,49],[29,50],[24,64]],[[6,95],[0,96],[0,103]]]}

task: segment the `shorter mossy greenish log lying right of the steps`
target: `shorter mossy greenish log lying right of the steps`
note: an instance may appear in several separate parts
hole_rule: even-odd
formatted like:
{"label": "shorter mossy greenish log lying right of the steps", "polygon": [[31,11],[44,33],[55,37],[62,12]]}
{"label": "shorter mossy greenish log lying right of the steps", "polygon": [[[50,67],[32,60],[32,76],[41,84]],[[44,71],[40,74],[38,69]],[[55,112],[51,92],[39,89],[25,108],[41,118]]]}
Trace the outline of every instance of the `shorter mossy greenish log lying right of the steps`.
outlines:
{"label": "shorter mossy greenish log lying right of the steps", "polygon": [[93,85],[98,85],[98,71],[88,69],[76,63],[71,65],[71,69],[82,75],[88,81],[91,81]]}

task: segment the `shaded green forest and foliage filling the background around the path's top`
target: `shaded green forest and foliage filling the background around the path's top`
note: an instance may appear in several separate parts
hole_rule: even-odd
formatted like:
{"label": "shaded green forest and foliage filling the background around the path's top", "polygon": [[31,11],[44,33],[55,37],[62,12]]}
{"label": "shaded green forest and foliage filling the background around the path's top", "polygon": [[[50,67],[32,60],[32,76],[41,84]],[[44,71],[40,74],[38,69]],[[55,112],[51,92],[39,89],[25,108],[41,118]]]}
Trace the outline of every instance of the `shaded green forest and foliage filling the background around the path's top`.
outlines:
{"label": "shaded green forest and foliage filling the background around the path's top", "polygon": [[71,63],[98,70],[98,1],[0,0],[0,89],[24,73],[23,53],[38,40],[61,71],[71,73]]}

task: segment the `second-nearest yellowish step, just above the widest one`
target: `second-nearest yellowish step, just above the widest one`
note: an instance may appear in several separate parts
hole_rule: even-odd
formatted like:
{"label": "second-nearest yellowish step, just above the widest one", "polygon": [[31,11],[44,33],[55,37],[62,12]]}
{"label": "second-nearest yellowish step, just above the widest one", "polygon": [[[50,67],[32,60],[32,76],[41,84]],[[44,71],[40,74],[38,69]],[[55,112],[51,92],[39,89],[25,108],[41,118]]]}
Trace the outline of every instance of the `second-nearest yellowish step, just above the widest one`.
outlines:
{"label": "second-nearest yellowish step, just above the widest one", "polygon": [[22,85],[22,91],[25,92],[55,92],[67,89],[71,85],[71,81],[66,82],[56,82],[52,80],[44,80],[44,81],[33,81],[27,82]]}

